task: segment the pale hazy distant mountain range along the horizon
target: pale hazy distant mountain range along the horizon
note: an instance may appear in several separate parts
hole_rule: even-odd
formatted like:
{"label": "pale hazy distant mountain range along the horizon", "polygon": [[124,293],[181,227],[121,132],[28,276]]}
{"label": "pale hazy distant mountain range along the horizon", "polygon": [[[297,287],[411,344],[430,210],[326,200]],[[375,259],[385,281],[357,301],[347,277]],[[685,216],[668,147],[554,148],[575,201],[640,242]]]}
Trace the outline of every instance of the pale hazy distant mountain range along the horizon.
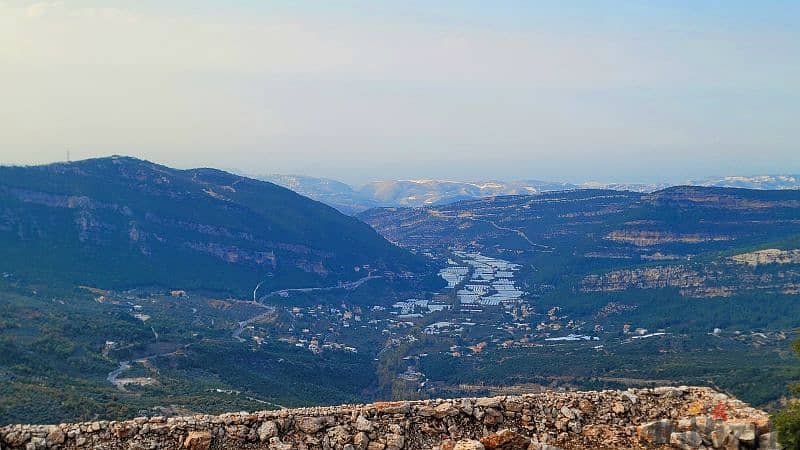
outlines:
{"label": "pale hazy distant mountain range along the horizon", "polygon": [[[540,194],[572,189],[612,189],[647,193],[671,186],[667,183],[602,181],[572,184],[540,180],[463,182],[423,179],[373,181],[354,187],[336,180],[302,175],[264,175],[257,178],[327,203],[346,214],[355,214],[374,207],[443,205],[498,195]],[[800,189],[800,175],[728,176],[687,181],[682,184],[747,189]]]}

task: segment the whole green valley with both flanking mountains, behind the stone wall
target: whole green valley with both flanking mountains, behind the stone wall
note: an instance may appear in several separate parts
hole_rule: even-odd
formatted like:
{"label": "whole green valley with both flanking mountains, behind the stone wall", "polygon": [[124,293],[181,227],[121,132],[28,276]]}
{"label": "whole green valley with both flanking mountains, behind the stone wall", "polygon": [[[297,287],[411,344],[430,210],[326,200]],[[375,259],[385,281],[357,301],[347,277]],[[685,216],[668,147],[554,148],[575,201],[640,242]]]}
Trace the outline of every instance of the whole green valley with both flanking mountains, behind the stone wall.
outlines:
{"label": "whole green valley with both flanking mountains, behind the stone wall", "polygon": [[[224,186],[251,182],[224,173],[56,169],[69,196],[0,186],[3,422],[664,384],[769,407],[800,377],[797,192],[576,190],[359,215],[378,235],[291,193],[235,197]],[[97,206],[81,186],[109,172],[169,207]],[[336,231],[264,225],[257,211],[278,204],[270,220],[322,215]]]}

